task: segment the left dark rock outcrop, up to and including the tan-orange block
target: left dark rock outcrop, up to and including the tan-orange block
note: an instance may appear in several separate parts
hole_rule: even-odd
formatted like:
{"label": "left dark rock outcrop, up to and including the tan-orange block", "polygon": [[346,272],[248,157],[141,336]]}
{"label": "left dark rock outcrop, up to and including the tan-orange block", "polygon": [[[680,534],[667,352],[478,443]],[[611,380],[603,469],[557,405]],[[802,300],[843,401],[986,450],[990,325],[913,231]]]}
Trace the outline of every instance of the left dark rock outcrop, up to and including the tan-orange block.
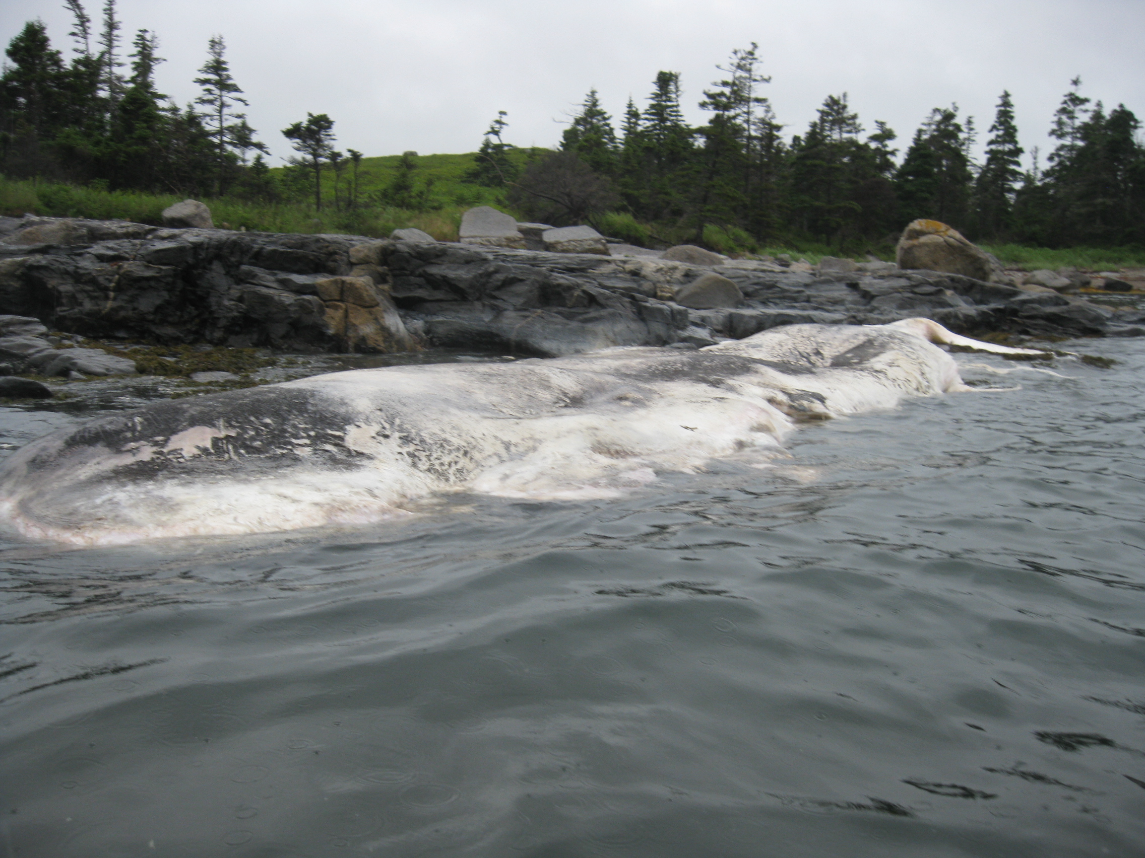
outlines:
{"label": "left dark rock outcrop, up to and including the tan-orange block", "polygon": [[[412,345],[385,285],[350,261],[370,239],[47,219],[0,219],[0,312],[57,331],[300,351]],[[321,296],[337,277],[373,294]]]}

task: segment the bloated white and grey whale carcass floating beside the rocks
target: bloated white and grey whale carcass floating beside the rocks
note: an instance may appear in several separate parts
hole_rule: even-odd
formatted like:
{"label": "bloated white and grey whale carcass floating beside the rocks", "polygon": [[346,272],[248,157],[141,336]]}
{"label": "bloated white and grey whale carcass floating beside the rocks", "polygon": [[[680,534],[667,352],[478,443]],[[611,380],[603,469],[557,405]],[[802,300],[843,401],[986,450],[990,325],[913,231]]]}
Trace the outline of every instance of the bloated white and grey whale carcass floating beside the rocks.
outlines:
{"label": "bloated white and grey whale carcass floating beside the rocks", "polygon": [[968,389],[931,341],[1024,351],[907,319],[792,325],[696,351],[331,373],[40,438],[0,470],[0,516],[25,537],[114,545],[376,522],[445,491],[610,496],[777,445],[800,420]]}

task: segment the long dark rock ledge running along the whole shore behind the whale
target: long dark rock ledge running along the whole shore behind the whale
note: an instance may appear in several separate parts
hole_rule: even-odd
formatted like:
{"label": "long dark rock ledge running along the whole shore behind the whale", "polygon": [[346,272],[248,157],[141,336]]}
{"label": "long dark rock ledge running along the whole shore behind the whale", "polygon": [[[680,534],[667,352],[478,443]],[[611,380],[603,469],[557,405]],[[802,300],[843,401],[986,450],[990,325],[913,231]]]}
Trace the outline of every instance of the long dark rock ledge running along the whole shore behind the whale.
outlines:
{"label": "long dark rock ledge running along the whole shore behind the whale", "polygon": [[[704,275],[726,278],[743,301],[689,309],[673,300]],[[1132,325],[1142,321],[1080,297],[934,271],[815,273],[745,260],[708,268],[31,217],[0,219],[0,313],[88,336],[302,351],[400,351],[411,348],[408,327],[435,345],[546,357],[609,345],[695,348],[808,321],[924,316],[963,334],[1058,336],[1137,335]]]}

